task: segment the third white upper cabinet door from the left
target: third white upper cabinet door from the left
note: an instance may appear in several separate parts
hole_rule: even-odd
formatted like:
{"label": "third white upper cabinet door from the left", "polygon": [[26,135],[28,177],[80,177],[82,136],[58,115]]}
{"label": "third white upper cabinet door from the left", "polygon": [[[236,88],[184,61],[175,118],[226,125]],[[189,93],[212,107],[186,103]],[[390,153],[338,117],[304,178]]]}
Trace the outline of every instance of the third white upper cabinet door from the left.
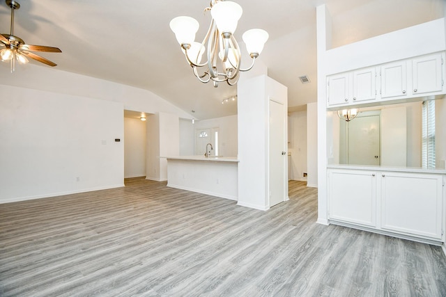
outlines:
{"label": "third white upper cabinet door from the left", "polygon": [[381,97],[407,96],[406,61],[387,63],[380,67]]}

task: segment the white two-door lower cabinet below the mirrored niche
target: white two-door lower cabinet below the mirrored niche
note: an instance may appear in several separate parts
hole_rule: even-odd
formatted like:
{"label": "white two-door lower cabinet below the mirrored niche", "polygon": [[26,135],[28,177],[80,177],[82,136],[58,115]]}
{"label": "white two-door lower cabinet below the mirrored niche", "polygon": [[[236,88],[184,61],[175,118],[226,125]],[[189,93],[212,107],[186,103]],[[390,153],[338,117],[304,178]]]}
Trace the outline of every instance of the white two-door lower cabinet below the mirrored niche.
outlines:
{"label": "white two-door lower cabinet below the mirrored niche", "polygon": [[443,241],[443,175],[328,170],[328,218],[409,238]]}

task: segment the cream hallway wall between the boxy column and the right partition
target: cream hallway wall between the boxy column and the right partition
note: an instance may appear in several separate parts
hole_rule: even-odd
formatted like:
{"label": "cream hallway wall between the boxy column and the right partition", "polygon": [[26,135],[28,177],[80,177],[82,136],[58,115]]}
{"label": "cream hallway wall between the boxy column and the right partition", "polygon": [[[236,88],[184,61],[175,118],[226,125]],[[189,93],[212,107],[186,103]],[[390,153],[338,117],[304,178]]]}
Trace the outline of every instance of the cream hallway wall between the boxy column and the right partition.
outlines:
{"label": "cream hallway wall between the boxy column and the right partition", "polygon": [[289,179],[307,182],[307,111],[289,113]]}

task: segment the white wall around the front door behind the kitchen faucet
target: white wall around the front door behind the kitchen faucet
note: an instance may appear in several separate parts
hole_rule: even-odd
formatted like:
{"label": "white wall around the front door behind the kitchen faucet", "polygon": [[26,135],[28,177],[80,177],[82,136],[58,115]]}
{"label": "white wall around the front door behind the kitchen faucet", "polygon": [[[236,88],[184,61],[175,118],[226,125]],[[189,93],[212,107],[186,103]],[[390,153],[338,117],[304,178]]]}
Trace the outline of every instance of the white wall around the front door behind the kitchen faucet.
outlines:
{"label": "white wall around the front door behind the kitchen faucet", "polygon": [[[197,129],[212,129],[217,127],[219,128],[218,154],[220,156],[237,156],[237,115],[229,115],[222,118],[195,121],[194,131]],[[195,141],[195,133],[192,137],[194,139],[194,152],[197,152],[197,141]]]}

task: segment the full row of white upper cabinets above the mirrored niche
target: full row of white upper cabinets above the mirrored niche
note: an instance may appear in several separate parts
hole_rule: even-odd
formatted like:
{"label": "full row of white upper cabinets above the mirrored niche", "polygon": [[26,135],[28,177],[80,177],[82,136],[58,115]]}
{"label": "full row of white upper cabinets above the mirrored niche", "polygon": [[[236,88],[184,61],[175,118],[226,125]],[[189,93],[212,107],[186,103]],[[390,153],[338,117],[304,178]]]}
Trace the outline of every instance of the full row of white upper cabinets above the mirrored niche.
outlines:
{"label": "full row of white upper cabinets above the mirrored niche", "polygon": [[373,102],[446,94],[444,56],[438,52],[329,75],[327,106],[370,106]]}

